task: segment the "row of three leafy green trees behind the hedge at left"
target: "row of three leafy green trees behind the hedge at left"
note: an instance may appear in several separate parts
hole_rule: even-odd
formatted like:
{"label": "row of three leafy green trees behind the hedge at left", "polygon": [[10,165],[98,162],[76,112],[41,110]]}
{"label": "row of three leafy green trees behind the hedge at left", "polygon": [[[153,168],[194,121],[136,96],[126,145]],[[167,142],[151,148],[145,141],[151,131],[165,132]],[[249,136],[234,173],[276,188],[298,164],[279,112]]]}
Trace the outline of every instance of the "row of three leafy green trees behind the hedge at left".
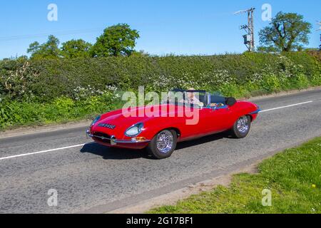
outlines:
{"label": "row of three leafy green trees behind the hedge at left", "polygon": [[[93,45],[82,39],[62,43],[56,36],[50,35],[46,43],[34,42],[29,45],[27,53],[32,60],[53,58],[101,58],[108,56],[146,56],[143,51],[135,51],[136,40],[139,38],[136,29],[128,24],[116,24],[107,27]],[[19,58],[25,58],[21,56]]]}

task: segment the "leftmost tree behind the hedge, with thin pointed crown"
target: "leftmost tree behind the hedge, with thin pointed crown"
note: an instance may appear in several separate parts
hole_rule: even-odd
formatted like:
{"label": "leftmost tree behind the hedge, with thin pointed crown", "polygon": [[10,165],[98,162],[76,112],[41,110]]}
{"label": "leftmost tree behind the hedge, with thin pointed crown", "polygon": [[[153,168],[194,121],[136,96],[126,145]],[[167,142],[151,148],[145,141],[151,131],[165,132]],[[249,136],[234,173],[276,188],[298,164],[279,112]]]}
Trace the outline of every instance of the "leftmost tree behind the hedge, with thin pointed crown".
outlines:
{"label": "leftmost tree behind the hedge, with thin pointed crown", "polygon": [[27,53],[31,53],[31,58],[58,58],[60,56],[59,40],[55,36],[49,36],[46,43],[31,43]]}

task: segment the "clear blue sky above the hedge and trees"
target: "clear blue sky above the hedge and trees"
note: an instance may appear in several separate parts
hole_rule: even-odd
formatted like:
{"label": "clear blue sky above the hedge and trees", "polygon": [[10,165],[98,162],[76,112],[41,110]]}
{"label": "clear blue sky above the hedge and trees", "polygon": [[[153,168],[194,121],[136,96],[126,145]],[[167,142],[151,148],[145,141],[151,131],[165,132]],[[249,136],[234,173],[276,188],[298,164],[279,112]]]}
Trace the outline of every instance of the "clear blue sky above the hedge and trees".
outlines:
{"label": "clear blue sky above the hedge and trees", "polygon": [[[58,21],[47,20],[51,3],[58,6]],[[272,16],[278,11],[302,14],[314,26],[309,47],[320,45],[320,0],[7,0],[0,7],[0,58],[26,54],[30,43],[47,38],[27,35],[52,33],[61,42],[83,38],[94,43],[103,28],[118,23],[140,31],[136,49],[152,54],[240,53],[246,50],[239,29],[246,16],[233,12],[256,7],[258,44],[258,31],[268,24],[261,19],[265,3],[272,6]]]}

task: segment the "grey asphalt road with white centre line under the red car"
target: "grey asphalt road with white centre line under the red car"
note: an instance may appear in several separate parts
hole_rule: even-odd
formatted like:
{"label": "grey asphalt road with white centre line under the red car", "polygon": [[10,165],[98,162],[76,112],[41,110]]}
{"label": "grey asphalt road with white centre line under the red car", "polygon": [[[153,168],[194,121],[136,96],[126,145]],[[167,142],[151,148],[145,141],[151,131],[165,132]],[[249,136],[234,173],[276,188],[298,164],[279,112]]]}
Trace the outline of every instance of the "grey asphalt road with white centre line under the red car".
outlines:
{"label": "grey asphalt road with white centre line under the red car", "polygon": [[[321,89],[255,103],[263,113],[248,138],[219,134],[182,142],[166,160],[97,145],[86,138],[86,128],[2,138],[0,213],[107,212],[230,172],[321,135]],[[52,189],[58,193],[57,207],[47,204]]]}

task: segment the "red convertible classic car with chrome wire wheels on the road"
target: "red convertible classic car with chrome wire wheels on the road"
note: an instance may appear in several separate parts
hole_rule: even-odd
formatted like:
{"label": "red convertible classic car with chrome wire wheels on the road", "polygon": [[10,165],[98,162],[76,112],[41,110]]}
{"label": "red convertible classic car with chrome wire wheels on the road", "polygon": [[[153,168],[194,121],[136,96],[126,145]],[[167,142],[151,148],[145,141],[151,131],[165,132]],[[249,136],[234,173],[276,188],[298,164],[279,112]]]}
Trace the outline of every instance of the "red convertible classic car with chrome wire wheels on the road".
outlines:
{"label": "red convertible classic car with chrome wire wheels on the road", "polygon": [[[150,155],[163,159],[172,155],[177,142],[227,130],[235,138],[245,138],[250,131],[251,122],[260,112],[253,103],[211,95],[203,90],[173,92],[182,92],[184,99],[167,98],[159,105],[131,109],[132,114],[143,115],[128,116],[124,115],[123,110],[105,113],[93,120],[87,135],[108,147],[147,148]],[[192,119],[191,115],[185,115],[187,106],[190,108],[189,113],[197,118],[193,123],[188,123]],[[158,112],[160,115],[155,115]]]}

